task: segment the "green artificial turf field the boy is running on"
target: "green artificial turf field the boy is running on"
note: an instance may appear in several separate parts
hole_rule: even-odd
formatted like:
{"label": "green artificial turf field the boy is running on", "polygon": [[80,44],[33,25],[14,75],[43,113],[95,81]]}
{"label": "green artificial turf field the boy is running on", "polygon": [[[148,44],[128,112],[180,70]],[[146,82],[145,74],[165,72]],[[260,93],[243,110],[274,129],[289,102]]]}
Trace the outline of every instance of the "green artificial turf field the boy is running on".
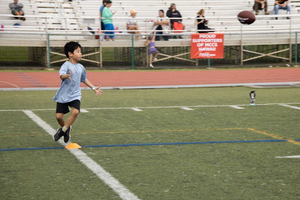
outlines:
{"label": "green artificial turf field the boy is running on", "polygon": [[[255,106],[249,105],[251,90]],[[83,90],[81,109],[88,112],[72,124],[71,142],[88,146],[80,151],[142,200],[298,199],[299,158],[276,157],[300,155],[294,141],[300,110],[279,105],[300,107],[299,91],[134,89],[96,97]],[[32,110],[56,130],[55,93],[0,92],[0,199],[121,199],[67,149],[3,151],[62,147],[23,112]]]}

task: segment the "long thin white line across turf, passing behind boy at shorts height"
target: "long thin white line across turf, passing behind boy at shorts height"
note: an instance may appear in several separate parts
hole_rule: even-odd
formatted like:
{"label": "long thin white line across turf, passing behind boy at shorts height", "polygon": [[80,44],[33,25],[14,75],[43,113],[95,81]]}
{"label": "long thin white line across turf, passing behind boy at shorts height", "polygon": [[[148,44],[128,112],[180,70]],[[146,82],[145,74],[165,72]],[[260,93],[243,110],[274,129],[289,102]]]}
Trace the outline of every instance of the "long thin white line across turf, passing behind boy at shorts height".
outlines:
{"label": "long thin white line across turf, passing behind boy at shorts height", "polygon": [[[299,104],[300,103],[265,103],[265,104],[256,104],[255,106],[265,106],[265,105],[286,105],[286,104]],[[100,110],[100,109],[142,109],[142,108],[182,108],[182,107],[226,107],[226,106],[252,106],[250,104],[244,104],[244,105],[219,105],[219,106],[159,106],[159,107],[124,107],[124,108],[85,108],[85,110]],[[286,105],[288,106],[288,105]],[[295,106],[288,106],[293,108],[298,108]],[[55,110],[55,109],[25,109],[25,110],[0,110],[0,111],[40,111],[40,110]],[[82,109],[80,109],[82,110]]]}

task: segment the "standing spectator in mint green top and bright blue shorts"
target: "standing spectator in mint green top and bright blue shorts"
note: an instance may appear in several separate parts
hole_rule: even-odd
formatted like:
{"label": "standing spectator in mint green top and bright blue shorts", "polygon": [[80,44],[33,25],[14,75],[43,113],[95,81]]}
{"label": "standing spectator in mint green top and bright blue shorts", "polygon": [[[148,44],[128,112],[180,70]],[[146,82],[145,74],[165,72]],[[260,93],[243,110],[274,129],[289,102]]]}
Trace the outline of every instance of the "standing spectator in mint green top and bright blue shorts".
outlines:
{"label": "standing spectator in mint green top and bright blue shorts", "polygon": [[[110,11],[109,7],[112,5],[112,1],[107,1],[106,5],[104,5],[104,8],[102,10],[102,17],[104,18],[112,18],[113,14],[112,11]],[[110,30],[104,32],[104,34],[115,34],[115,31],[113,31],[115,28],[113,27],[113,19],[102,19],[102,22],[104,24],[104,30]],[[112,39],[115,41],[115,36],[114,35],[107,35],[106,36],[106,41]]]}

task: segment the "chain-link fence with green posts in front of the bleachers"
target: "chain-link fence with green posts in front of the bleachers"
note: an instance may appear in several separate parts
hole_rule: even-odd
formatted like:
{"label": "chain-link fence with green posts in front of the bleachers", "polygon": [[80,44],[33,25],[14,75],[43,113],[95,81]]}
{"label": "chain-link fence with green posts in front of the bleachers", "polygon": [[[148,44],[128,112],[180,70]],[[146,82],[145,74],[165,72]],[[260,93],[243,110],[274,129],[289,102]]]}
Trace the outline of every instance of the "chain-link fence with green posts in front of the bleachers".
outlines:
{"label": "chain-link fence with green posts in front of the bleachers", "polygon": [[[60,68],[67,60],[64,44],[79,41],[86,68],[147,69],[150,35],[116,33],[115,41],[95,34],[34,34],[0,32],[1,68]],[[300,54],[299,33],[224,34],[224,57],[220,59],[190,58],[190,34],[166,35],[155,41],[159,51],[155,68],[203,68],[294,65]],[[180,36],[180,37],[179,37]],[[100,38],[100,39],[98,39]],[[166,38],[166,37],[165,37]]]}

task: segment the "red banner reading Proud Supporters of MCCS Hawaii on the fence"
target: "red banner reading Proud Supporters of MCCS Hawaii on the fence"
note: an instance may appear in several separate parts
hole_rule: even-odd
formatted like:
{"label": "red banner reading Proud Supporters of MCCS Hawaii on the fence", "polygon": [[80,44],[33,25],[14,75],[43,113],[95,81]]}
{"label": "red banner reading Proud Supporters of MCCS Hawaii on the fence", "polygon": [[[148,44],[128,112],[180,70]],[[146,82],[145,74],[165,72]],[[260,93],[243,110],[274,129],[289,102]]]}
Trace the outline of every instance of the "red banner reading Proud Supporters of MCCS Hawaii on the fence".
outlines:
{"label": "red banner reading Proud Supporters of MCCS Hawaii on the fence", "polygon": [[190,58],[223,58],[223,33],[191,34]]}

